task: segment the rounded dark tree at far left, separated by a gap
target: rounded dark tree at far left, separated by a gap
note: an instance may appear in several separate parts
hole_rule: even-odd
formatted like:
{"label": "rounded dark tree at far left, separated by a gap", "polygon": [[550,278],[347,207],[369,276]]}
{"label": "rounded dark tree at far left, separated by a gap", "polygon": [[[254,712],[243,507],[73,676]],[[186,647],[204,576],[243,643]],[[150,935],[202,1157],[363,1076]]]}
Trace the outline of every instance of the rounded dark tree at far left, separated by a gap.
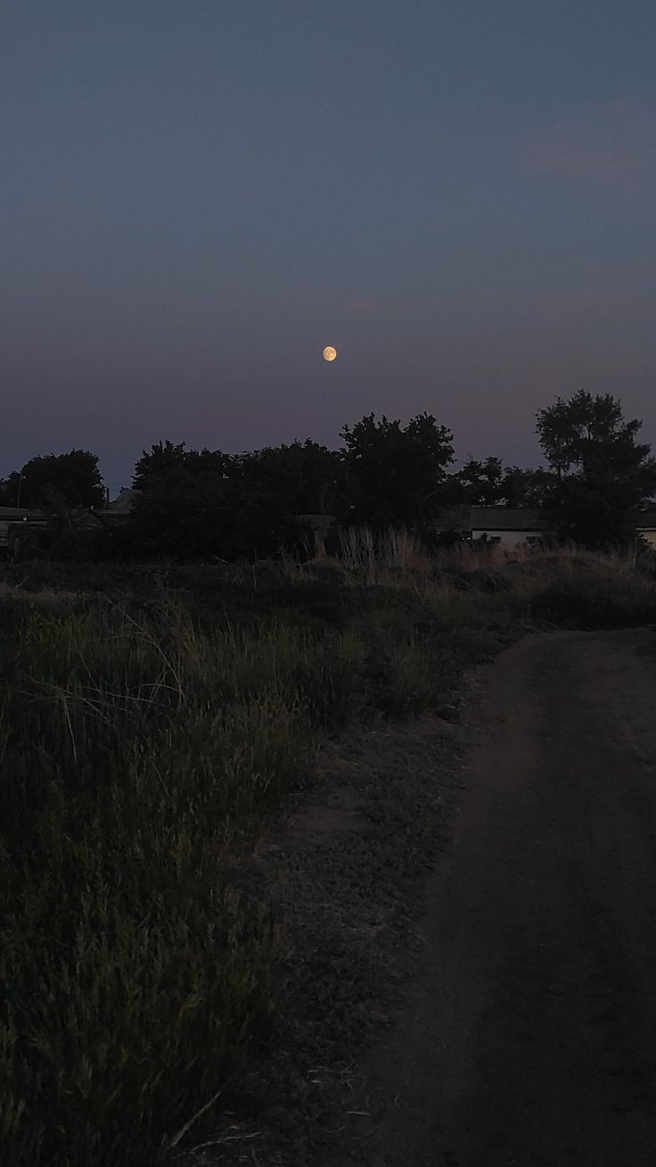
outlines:
{"label": "rounded dark tree at far left, separated by a gap", "polygon": [[49,511],[103,506],[105,488],[98,457],[85,449],[31,457],[0,483],[6,506],[34,506]]}

